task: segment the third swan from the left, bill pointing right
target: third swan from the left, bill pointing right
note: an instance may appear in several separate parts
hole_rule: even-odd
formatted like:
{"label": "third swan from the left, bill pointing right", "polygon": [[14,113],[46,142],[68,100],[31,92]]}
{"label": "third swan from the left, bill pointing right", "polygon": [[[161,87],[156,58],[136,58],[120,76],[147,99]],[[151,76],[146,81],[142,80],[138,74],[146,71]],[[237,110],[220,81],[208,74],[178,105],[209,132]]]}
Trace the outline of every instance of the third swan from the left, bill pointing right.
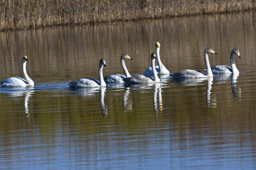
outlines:
{"label": "third swan from the left, bill pointing right", "polygon": [[104,81],[106,83],[124,83],[123,79],[125,78],[129,78],[131,77],[130,73],[128,72],[124,60],[125,59],[129,59],[129,60],[133,60],[129,55],[127,54],[123,54],[120,58],[121,61],[121,65],[124,71],[124,74],[111,74],[111,75],[107,75],[106,77],[104,77]]}

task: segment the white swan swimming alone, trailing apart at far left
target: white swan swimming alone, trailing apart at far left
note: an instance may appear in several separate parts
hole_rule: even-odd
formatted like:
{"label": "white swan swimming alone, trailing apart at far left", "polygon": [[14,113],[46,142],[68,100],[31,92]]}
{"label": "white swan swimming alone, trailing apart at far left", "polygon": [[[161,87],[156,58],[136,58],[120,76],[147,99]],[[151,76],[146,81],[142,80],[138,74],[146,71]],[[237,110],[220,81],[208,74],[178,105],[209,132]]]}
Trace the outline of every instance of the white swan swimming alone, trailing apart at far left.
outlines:
{"label": "white swan swimming alone, trailing apart at far left", "polygon": [[34,86],[34,81],[28,77],[26,71],[27,56],[22,57],[22,72],[25,79],[22,78],[9,78],[1,81],[2,87],[31,87]]}

